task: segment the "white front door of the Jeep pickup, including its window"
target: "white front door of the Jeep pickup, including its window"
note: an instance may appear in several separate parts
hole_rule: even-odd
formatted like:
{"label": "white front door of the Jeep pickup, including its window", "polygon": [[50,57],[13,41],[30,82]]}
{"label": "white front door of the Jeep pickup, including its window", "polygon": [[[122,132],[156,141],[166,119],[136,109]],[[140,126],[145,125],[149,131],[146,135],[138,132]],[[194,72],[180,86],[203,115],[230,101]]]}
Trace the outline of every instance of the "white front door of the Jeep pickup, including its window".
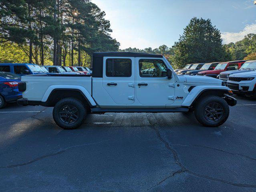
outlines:
{"label": "white front door of the Jeep pickup, including its window", "polygon": [[168,79],[166,69],[163,58],[136,58],[136,98],[141,104],[174,102],[174,75]]}

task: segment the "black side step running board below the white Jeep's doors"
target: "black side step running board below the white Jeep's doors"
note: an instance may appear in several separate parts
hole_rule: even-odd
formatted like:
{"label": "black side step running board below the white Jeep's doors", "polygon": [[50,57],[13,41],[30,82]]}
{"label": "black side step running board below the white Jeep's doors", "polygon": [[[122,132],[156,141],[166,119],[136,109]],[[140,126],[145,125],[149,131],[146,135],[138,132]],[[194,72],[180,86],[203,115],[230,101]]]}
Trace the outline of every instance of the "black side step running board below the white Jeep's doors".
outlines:
{"label": "black side step running board below the white Jeep's doors", "polygon": [[188,112],[188,108],[91,108],[92,113],[177,113],[177,112]]}

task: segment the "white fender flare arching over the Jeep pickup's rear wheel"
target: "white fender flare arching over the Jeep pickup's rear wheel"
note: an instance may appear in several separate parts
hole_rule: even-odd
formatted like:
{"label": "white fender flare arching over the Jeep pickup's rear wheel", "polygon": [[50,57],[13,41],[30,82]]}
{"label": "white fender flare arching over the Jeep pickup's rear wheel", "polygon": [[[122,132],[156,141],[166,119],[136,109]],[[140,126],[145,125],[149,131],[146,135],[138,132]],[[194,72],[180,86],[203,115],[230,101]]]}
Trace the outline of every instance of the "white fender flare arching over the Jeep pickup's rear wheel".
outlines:
{"label": "white fender flare arching over the Jeep pickup's rear wheel", "polygon": [[46,102],[47,99],[49,98],[50,94],[54,90],[78,90],[85,96],[87,102],[89,102],[89,105],[91,107],[94,107],[97,105],[96,102],[93,100],[91,94],[86,90],[86,88],[84,88],[83,86],[79,86],[79,85],[51,85],[48,87],[48,89],[44,93],[42,102]]}

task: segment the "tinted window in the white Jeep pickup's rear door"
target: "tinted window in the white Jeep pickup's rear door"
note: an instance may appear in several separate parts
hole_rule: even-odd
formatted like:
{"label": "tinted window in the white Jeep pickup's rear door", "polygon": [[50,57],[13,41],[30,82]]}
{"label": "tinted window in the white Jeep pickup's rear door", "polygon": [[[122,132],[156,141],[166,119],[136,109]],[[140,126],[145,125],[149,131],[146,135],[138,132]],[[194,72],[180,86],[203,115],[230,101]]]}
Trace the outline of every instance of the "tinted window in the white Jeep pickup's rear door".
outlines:
{"label": "tinted window in the white Jeep pickup's rear door", "polygon": [[106,61],[107,77],[130,77],[131,59],[107,59]]}

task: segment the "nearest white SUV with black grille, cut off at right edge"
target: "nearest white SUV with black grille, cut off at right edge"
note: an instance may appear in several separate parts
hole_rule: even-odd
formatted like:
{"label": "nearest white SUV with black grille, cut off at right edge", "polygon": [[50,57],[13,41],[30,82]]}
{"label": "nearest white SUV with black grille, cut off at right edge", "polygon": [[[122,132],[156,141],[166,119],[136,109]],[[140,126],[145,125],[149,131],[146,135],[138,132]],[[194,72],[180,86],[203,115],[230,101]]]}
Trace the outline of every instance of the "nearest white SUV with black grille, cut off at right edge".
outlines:
{"label": "nearest white SUV with black grille, cut off at right edge", "polygon": [[256,98],[256,72],[232,74],[228,78],[227,86],[235,94]]}

